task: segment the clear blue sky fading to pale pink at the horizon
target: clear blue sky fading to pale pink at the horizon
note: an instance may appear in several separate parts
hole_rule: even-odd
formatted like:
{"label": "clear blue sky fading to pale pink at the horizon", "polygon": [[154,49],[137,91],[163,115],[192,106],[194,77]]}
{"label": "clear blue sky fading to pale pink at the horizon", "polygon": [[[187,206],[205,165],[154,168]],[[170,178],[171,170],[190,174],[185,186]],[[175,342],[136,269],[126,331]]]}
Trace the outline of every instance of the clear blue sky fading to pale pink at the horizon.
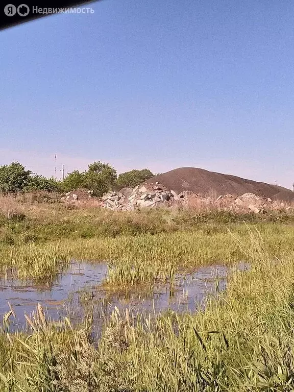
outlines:
{"label": "clear blue sky fading to pale pink at the horizon", "polygon": [[[293,0],[104,0],[0,33],[0,164],[291,187]],[[87,6],[88,7],[88,6]]]}

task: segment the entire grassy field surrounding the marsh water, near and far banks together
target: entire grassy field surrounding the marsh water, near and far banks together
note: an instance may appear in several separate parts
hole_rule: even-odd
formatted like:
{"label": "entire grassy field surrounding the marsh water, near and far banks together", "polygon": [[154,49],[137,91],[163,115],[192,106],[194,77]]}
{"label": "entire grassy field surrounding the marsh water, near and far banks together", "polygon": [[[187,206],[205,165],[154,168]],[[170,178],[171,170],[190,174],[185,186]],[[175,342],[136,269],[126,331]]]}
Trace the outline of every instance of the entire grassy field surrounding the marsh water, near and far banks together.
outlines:
{"label": "entire grassy field surrounding the marsh water, near and far banks together", "polygon": [[90,314],[73,328],[70,314],[50,323],[40,306],[30,334],[10,333],[11,309],[0,332],[1,391],[294,390],[292,215],[5,203],[3,274],[49,284],[70,259],[106,260],[105,284],[129,287],[214,262],[247,260],[251,269],[233,269],[226,291],[194,314],[116,310],[98,341]]}

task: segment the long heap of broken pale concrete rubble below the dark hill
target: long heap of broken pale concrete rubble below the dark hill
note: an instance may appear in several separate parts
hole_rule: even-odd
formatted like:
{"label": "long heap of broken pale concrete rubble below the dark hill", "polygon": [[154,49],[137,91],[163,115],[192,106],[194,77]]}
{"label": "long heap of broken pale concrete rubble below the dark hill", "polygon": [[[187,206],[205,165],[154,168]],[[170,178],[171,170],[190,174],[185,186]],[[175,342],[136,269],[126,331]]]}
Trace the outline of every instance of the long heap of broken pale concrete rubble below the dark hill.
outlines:
{"label": "long heap of broken pale concrete rubble below the dark hill", "polygon": [[266,213],[280,208],[290,209],[283,202],[273,201],[271,198],[263,198],[254,193],[243,193],[236,197],[233,194],[219,195],[218,197],[202,197],[196,192],[184,190],[177,194],[174,190],[156,183],[144,183],[132,188],[122,188],[120,191],[109,191],[102,198],[93,196],[93,191],[77,189],[65,193],[61,199],[65,203],[85,205],[91,204],[102,208],[116,211],[133,211],[140,208],[158,207],[196,207],[217,208],[218,210],[230,210],[236,212],[253,211]]}

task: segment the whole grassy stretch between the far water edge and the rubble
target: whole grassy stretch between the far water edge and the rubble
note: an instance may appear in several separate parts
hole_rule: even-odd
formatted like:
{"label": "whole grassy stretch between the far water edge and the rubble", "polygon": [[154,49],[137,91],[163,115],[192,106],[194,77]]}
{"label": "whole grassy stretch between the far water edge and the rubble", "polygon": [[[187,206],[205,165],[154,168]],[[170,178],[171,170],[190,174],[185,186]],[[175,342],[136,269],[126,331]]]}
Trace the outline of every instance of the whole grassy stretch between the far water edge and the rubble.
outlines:
{"label": "whole grassy stretch between the far water edge and the rubble", "polygon": [[238,244],[248,237],[244,222],[257,228],[269,253],[292,252],[294,215],[285,211],[266,215],[189,209],[121,213],[2,197],[0,271],[50,283],[70,259],[105,260],[108,284],[153,284],[172,279],[179,268],[246,258]]}

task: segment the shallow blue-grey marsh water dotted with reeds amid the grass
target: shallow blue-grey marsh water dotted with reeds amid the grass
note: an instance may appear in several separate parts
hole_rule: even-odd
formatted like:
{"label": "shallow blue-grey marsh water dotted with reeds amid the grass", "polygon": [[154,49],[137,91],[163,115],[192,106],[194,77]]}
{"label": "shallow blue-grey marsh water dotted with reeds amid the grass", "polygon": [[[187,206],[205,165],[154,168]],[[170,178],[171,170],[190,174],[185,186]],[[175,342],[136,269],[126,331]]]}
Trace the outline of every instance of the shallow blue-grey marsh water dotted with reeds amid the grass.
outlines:
{"label": "shallow blue-grey marsh water dotted with reeds amid the grass", "polygon": [[[247,269],[248,265],[241,263],[238,268]],[[203,306],[208,293],[215,295],[226,288],[228,269],[222,265],[205,266],[190,274],[177,274],[172,286],[158,283],[148,289],[130,287],[119,290],[107,289],[102,284],[106,273],[106,263],[73,261],[67,271],[50,285],[1,277],[0,314],[10,310],[9,302],[16,314],[11,320],[15,329],[26,325],[24,314],[32,314],[38,303],[46,316],[55,321],[70,315],[73,322],[80,322],[90,310],[97,326],[114,307],[120,310],[132,308],[136,312],[159,313],[167,309],[194,312]]]}

